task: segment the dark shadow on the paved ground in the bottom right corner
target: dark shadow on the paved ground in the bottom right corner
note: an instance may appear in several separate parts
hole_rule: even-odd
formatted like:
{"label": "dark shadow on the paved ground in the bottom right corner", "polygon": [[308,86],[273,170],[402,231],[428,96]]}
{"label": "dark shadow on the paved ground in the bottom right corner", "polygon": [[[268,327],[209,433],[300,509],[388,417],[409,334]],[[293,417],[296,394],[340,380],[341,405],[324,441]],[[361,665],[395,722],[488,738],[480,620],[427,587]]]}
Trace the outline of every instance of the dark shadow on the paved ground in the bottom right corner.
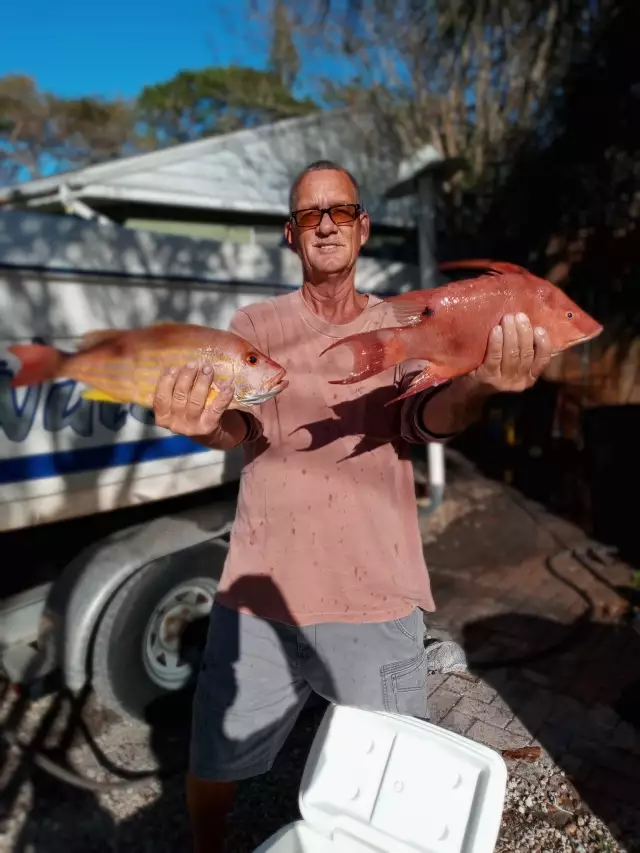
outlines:
{"label": "dark shadow on the paved ground in the bottom right corner", "polygon": [[583,804],[640,850],[640,636],[586,610],[568,625],[490,616],[465,625],[463,641],[471,671],[517,716],[514,731],[530,733]]}

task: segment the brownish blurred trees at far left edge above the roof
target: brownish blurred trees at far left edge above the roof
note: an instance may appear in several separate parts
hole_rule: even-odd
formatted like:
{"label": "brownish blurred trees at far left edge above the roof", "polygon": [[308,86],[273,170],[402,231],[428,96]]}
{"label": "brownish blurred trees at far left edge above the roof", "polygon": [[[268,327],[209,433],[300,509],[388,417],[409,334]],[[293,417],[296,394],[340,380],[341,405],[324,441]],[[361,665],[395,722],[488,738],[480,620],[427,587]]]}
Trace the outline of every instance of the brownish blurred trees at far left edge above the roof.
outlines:
{"label": "brownish blurred trees at far left edge above the roof", "polygon": [[126,101],[60,98],[25,75],[0,78],[0,183],[38,178],[134,150]]}

